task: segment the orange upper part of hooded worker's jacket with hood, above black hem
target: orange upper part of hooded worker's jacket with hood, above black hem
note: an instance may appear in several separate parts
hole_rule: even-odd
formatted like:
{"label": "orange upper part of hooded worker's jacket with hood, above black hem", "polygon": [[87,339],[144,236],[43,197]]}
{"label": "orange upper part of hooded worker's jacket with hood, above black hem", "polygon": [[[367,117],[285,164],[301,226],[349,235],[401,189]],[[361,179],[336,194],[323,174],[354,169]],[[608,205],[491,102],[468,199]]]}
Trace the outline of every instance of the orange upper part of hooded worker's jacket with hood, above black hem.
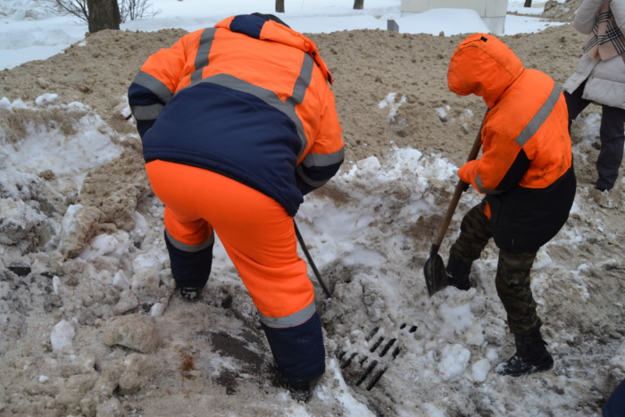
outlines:
{"label": "orange upper part of hooded worker's jacket with hood, above black hem", "polygon": [[481,34],[467,38],[452,56],[448,82],[457,94],[482,96],[490,108],[482,156],[462,166],[463,181],[486,194],[517,185],[546,188],[571,167],[560,88],[545,73],[524,69],[503,42]]}

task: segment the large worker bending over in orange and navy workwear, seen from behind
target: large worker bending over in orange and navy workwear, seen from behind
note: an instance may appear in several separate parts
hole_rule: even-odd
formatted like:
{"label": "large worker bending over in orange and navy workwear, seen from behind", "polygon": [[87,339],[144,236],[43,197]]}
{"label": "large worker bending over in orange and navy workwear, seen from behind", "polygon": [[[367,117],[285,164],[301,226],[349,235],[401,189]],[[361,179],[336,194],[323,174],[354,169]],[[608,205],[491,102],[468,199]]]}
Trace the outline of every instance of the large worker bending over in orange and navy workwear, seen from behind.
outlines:
{"label": "large worker bending over in orange and navy workwear, seen from behind", "polygon": [[151,55],[129,87],[181,296],[199,298],[219,235],[279,373],[307,401],[325,370],[321,320],[293,217],[344,142],[311,39],[272,15],[229,17]]}

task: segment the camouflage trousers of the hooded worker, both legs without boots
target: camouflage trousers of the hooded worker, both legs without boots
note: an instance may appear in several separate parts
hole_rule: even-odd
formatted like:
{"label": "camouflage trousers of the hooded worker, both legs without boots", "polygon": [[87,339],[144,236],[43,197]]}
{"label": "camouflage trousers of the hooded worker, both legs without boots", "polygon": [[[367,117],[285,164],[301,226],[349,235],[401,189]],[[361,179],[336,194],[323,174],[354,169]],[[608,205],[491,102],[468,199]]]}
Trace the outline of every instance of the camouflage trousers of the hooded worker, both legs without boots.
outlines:
{"label": "camouflage trousers of the hooded worker, both legs without boots", "polygon": [[[460,225],[460,236],[454,242],[449,255],[462,263],[471,265],[479,259],[493,233],[482,202],[466,213]],[[495,276],[497,295],[508,315],[510,331],[516,335],[529,336],[540,329],[543,322],[536,313],[536,301],[529,286],[529,270],[537,252],[511,254],[499,249]]]}

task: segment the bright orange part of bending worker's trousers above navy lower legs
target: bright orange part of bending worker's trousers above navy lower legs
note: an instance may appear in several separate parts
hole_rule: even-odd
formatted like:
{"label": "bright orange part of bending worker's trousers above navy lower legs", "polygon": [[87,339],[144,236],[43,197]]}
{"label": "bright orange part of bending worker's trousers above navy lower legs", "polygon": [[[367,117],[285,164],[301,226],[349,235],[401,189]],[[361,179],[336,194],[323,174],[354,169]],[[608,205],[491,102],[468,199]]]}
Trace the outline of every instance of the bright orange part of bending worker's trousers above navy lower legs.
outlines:
{"label": "bright orange part of bending worker's trousers above navy lower legs", "polygon": [[286,317],[314,301],[307,266],[297,254],[293,218],[273,198],[221,174],[160,160],[146,163],[165,204],[165,229],[196,246],[213,229],[258,311]]}

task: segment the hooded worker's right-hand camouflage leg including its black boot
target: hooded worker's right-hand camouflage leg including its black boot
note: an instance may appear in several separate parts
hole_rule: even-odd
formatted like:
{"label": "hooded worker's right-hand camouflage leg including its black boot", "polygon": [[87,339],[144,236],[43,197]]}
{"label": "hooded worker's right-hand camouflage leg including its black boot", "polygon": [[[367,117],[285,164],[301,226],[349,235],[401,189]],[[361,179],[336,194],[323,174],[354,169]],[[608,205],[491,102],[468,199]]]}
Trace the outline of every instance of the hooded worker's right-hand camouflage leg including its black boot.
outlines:
{"label": "hooded worker's right-hand camouflage leg including its black boot", "polygon": [[503,375],[518,377],[554,366],[554,358],[546,350],[540,334],[543,322],[537,316],[536,301],[530,288],[529,270],[536,254],[510,254],[499,250],[495,285],[516,346],[516,353],[497,367],[497,372]]}

